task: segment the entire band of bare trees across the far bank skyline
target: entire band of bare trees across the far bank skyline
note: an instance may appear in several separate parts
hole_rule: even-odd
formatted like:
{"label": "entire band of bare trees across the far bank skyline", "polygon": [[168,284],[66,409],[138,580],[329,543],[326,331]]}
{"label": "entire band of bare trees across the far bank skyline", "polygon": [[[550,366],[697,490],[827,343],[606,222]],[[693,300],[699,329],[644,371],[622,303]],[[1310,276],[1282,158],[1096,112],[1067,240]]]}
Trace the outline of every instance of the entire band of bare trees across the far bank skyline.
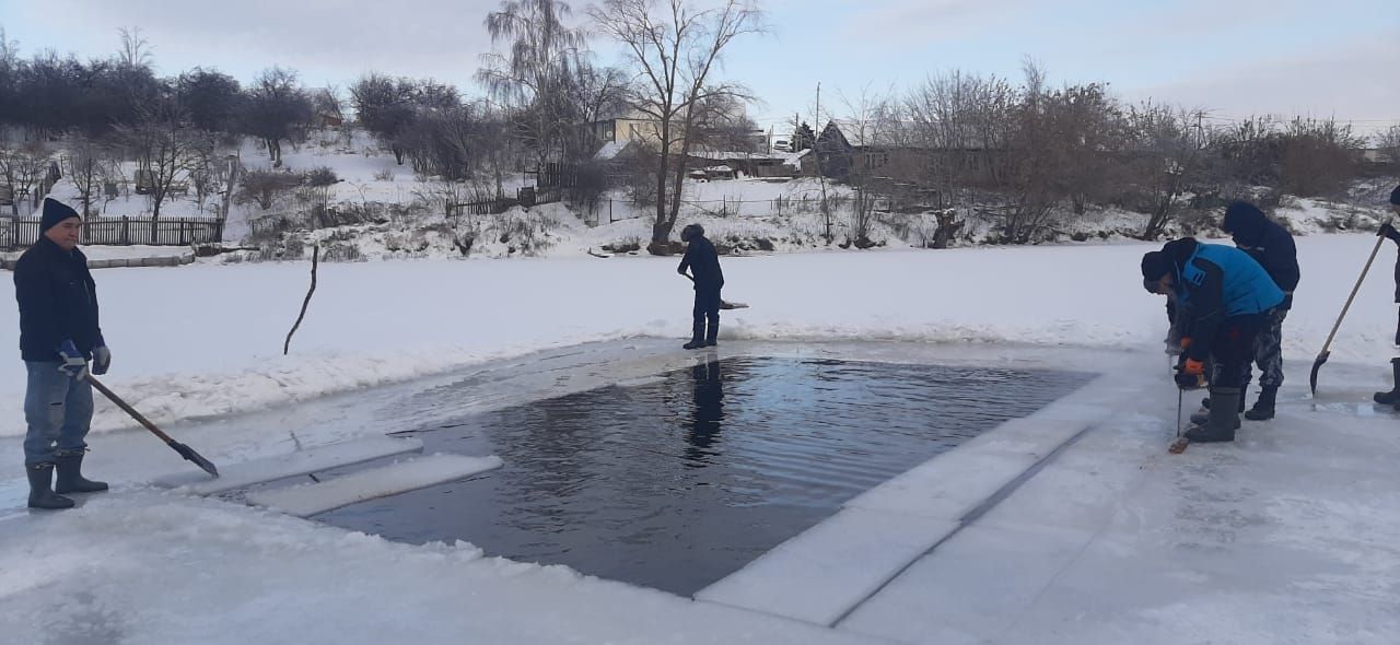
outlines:
{"label": "entire band of bare trees across the far bank skyline", "polygon": [[[431,78],[379,73],[360,77],[344,95],[335,87],[309,90],[280,67],[246,85],[202,67],[157,77],[139,29],[122,29],[120,49],[92,60],[53,52],[22,57],[0,31],[0,180],[28,190],[45,172],[49,148],[63,140],[64,173],[85,208],[120,173],[120,161],[136,162],[157,217],[185,185],[193,185],[200,204],[218,193],[227,204],[235,178],[221,150],[256,137],[276,168],[283,143],[353,111],[399,164],[445,183],[473,182],[473,194],[493,180],[500,194],[505,172],[550,164],[596,192],[592,183],[606,173],[587,164],[601,143],[592,125],[633,113],[655,130],[648,133],[654,147],[637,153],[631,183],[648,185],[637,193],[655,210],[650,249],[665,252],[687,154],[701,146],[752,146],[753,123],[743,116],[752,92],[720,78],[717,69],[734,41],[764,28],[762,20],[745,0],[601,0],[584,20],[561,0],[503,0],[484,18],[496,52],[476,73],[484,90],[479,99]],[[585,29],[619,46],[622,67],[594,63]],[[1361,146],[1347,126],[1329,120],[1252,118],[1212,126],[1198,109],[1126,104],[1103,84],[1054,88],[1030,62],[1019,83],[951,71],[847,106],[844,122],[860,132],[858,155],[823,150],[830,141],[823,144],[812,125],[825,123],[798,123],[791,141],[818,148],[820,171],[855,187],[860,231],[878,197],[913,187],[927,206],[986,214],[1012,243],[1044,236],[1060,214],[1082,214],[1091,204],[1148,213],[1141,235],[1152,238],[1191,200],[1253,186],[1334,193],[1355,175]],[[1379,144],[1400,154],[1400,127]]]}

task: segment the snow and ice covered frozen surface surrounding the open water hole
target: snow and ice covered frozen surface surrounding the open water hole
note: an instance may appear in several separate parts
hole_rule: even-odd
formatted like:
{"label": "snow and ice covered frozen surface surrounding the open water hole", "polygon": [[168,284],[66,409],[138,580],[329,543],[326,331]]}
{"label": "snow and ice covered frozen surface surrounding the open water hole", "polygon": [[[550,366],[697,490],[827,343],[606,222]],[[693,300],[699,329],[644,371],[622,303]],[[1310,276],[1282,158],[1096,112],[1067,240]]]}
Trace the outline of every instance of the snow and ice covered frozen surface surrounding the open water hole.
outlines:
{"label": "snow and ice covered frozen surface surrounding the open water hole", "polygon": [[[48,630],[57,642],[1394,642],[1400,430],[1368,403],[1390,385],[1389,242],[1333,344],[1322,397],[1306,390],[1375,239],[1299,239],[1280,418],[1180,458],[1162,451],[1176,402],[1159,351],[1162,299],[1138,277],[1148,245],[727,259],[725,297],[753,305],[725,312],[727,351],[1110,376],[1079,403],[984,435],[983,452],[959,448],[914,484],[853,501],[848,516],[871,520],[829,533],[893,540],[913,560],[854,589],[869,593],[834,628],[151,488],[188,465],[144,431],[118,430],[132,424],[111,406],[99,407],[90,463],[116,491],[29,513],[15,362],[0,374],[0,444],[15,465],[0,481],[10,509],[0,512],[0,632]],[[553,355],[582,353],[570,360],[603,385],[693,361],[679,348],[690,291],[675,262],[323,264],[287,357],[308,263],[104,270],[106,382],[216,463],[374,435],[430,421],[414,402],[468,371],[525,378]],[[0,327],[0,346],[17,341],[15,325]],[[571,348],[591,341],[602,343]],[[559,389],[535,379],[493,389],[487,378],[483,397]],[[388,386],[361,389],[372,385]],[[959,525],[973,492],[1011,484],[1063,444],[1046,437],[1071,430],[1043,470]],[[946,473],[972,479],[935,484]],[[949,491],[970,498],[918,505]],[[799,595],[797,582],[844,575],[862,558],[822,544],[809,541],[816,560],[780,567],[769,583]]]}

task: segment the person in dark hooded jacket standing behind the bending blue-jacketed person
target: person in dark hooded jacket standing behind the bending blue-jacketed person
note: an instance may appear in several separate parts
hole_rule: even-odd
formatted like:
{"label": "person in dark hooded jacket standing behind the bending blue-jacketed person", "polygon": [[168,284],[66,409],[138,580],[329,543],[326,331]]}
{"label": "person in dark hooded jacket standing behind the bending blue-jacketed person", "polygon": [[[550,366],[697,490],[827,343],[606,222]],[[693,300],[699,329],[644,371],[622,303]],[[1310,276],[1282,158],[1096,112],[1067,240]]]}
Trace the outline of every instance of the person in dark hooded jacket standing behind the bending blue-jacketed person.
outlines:
{"label": "person in dark hooded jacket standing behind the bending blue-jacketed person", "polygon": [[[1264,217],[1264,211],[1249,201],[1229,204],[1221,228],[1235,239],[1235,248],[1259,262],[1274,284],[1284,291],[1284,302],[1264,315],[1259,334],[1254,336],[1253,362],[1259,364],[1261,389],[1259,400],[1245,413],[1245,418],[1263,421],[1274,418],[1274,400],[1278,396],[1278,386],[1284,385],[1284,318],[1294,305],[1294,290],[1298,288],[1301,277],[1298,248],[1284,227],[1270,221]],[[1250,361],[1245,362],[1243,369],[1240,388],[1249,389],[1253,378]]]}

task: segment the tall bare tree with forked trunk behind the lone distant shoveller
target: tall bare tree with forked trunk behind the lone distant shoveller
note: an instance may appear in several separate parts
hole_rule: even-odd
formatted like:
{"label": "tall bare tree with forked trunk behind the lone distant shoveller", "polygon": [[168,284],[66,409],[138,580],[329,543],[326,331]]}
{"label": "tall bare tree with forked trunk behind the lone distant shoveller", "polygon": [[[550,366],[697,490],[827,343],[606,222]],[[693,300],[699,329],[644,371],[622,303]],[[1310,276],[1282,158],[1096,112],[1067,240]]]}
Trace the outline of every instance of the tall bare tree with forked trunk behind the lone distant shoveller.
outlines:
{"label": "tall bare tree with forked trunk behind the lone distant shoveller", "polygon": [[[589,15],[602,34],[623,46],[636,73],[631,105],[657,123],[657,222],[647,249],[668,253],[680,214],[683,160],[697,116],[693,108],[721,95],[746,98],[738,85],[713,83],[710,74],[735,38],[762,31],[763,14],[739,0],[713,8],[696,8],[692,0],[605,0],[589,8]],[[672,153],[679,154],[675,164]]]}

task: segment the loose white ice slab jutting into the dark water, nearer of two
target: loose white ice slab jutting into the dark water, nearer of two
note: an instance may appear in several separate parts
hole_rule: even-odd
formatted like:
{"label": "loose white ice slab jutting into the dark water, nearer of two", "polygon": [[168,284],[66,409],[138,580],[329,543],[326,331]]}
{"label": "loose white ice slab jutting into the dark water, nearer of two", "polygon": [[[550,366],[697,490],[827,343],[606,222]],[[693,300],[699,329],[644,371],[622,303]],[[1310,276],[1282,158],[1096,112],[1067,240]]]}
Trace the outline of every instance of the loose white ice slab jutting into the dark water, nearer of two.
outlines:
{"label": "loose white ice slab jutting into the dark water, nearer of two", "polygon": [[248,495],[248,501],[298,518],[308,518],[365,499],[459,480],[498,467],[501,467],[501,459],[497,456],[431,455],[350,473],[318,484],[255,492]]}

